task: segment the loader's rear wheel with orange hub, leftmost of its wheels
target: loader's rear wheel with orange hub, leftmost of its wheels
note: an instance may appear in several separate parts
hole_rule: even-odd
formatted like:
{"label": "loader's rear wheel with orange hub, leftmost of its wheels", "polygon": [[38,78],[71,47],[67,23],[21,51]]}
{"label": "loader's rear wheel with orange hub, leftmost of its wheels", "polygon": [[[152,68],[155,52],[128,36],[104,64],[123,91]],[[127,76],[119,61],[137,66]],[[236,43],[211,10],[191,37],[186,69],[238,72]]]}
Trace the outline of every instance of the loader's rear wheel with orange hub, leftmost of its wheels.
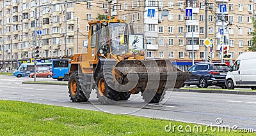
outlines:
{"label": "loader's rear wheel with orange hub, leftmost of its wheels", "polygon": [[87,102],[90,97],[91,92],[83,92],[81,88],[78,71],[73,71],[70,74],[70,78],[68,80],[68,93],[72,102]]}

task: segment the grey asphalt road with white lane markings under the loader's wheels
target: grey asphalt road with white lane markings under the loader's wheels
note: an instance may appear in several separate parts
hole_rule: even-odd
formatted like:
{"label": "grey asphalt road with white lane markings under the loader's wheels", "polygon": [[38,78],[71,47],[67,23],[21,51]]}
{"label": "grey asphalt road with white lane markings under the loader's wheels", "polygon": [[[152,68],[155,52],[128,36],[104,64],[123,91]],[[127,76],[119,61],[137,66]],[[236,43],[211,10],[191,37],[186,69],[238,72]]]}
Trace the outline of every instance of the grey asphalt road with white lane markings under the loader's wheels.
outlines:
{"label": "grey asphalt road with white lane markings under the loader's wheels", "polygon": [[[168,91],[161,104],[147,105],[138,94],[132,95],[128,101],[118,102],[116,105],[100,105],[95,92],[92,92],[90,102],[74,103],[68,97],[67,86],[22,85],[22,81],[33,81],[33,79],[0,75],[0,99],[171,119],[204,125],[216,125],[216,119],[221,118],[223,121],[221,125],[236,125],[239,128],[256,130],[256,96]],[[38,78],[37,81],[56,80]]]}

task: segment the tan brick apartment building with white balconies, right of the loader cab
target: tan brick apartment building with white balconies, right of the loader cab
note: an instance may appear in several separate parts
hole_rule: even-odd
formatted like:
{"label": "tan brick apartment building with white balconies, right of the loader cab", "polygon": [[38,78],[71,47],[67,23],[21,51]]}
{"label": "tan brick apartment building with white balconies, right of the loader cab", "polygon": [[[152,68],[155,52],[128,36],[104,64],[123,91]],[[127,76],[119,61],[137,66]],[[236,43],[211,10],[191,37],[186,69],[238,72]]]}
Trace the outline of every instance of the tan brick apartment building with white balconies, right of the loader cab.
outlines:
{"label": "tan brick apartment building with white balconies, right of the loader cab", "polygon": [[[177,67],[184,70],[188,65],[192,65],[193,48],[195,62],[203,62],[208,56],[211,56],[214,62],[221,61],[222,13],[219,7],[222,3],[227,5],[227,11],[223,13],[225,20],[222,44],[228,46],[232,60],[235,60],[238,55],[248,51],[248,46],[251,44],[250,32],[253,30],[252,18],[255,14],[255,3],[252,0],[243,3],[228,0],[207,1],[207,37],[213,41],[212,51],[208,48],[207,56],[204,46],[204,0],[116,0],[114,3],[112,1],[111,15],[138,24],[138,26],[134,25],[134,29],[140,28],[140,31],[135,32],[144,34],[148,58],[172,59]],[[192,17],[186,17],[186,9],[192,9]],[[149,10],[154,10],[154,17],[148,15]],[[162,12],[166,10],[168,16],[163,16]],[[193,48],[192,41],[194,41]]]}

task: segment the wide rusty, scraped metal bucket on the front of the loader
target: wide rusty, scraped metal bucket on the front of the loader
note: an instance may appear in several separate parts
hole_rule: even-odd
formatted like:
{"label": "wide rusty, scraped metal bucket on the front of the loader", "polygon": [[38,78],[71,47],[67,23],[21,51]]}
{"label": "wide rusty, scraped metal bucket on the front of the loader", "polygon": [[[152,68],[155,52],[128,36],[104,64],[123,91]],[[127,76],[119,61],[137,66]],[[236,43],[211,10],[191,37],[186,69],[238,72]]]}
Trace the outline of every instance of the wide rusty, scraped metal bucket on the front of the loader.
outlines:
{"label": "wide rusty, scraped metal bucket on the front of the loader", "polygon": [[121,60],[113,67],[116,88],[138,93],[144,90],[180,88],[191,76],[172,65],[170,60]]}

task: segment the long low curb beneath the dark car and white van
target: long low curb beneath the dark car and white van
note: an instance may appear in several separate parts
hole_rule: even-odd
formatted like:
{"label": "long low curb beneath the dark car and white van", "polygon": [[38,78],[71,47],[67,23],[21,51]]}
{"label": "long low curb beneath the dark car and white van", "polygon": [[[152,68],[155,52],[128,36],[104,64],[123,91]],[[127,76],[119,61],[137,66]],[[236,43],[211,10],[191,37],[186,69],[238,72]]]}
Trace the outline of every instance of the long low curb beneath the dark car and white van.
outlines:
{"label": "long low curb beneath the dark car and white van", "polygon": [[256,92],[226,91],[226,90],[196,90],[196,89],[174,89],[173,92],[193,92],[193,93],[223,93],[234,95],[256,95]]}

